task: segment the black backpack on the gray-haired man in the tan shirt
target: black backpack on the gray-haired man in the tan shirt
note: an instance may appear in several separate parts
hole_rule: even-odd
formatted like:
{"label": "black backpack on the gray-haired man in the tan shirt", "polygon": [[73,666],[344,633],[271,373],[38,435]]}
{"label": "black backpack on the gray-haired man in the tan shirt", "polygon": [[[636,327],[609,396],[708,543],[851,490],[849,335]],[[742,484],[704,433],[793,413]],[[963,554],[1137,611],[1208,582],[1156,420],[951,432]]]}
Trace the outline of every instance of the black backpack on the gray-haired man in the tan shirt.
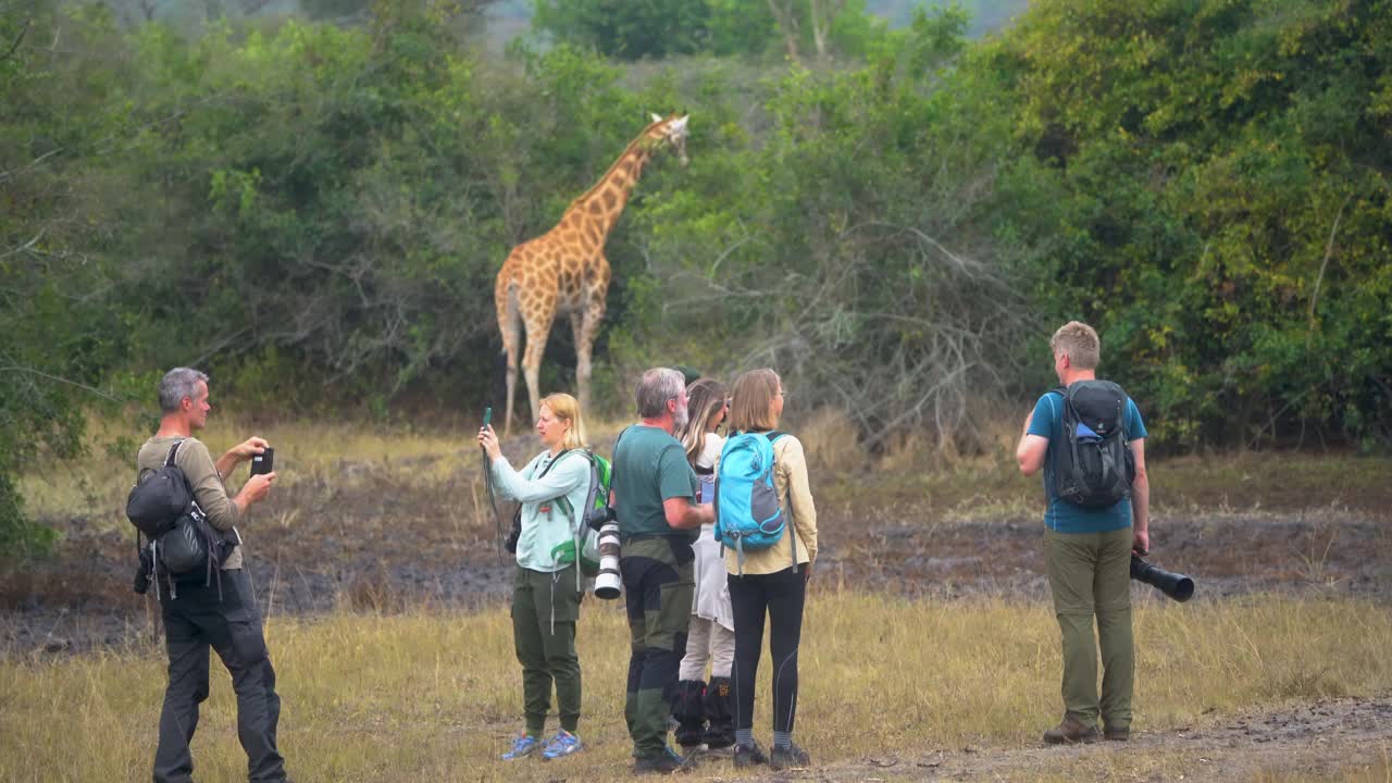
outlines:
{"label": "black backpack on the gray-haired man in the tan shirt", "polygon": [[[174,442],[159,470],[142,471],[125,499],[125,515],[135,525],[141,573],[148,573],[149,581],[156,584],[156,594],[161,577],[168,582],[170,595],[177,596],[175,581],[198,575],[203,575],[205,585],[216,577],[221,592],[221,564],[237,542],[207,524],[188,476],[174,464],[182,444],[182,439]],[[148,546],[141,545],[141,536],[149,541]]]}

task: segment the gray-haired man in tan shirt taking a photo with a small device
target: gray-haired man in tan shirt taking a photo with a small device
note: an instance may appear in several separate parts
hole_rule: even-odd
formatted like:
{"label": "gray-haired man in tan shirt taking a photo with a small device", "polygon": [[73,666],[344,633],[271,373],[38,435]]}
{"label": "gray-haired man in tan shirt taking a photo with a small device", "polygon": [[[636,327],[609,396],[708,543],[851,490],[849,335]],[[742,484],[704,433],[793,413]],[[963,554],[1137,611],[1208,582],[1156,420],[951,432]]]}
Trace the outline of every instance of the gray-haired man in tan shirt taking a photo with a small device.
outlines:
{"label": "gray-haired man in tan shirt taking a photo with a small device", "polygon": [[241,463],[269,446],[249,437],[216,463],[193,432],[207,424],[207,376],[196,369],[174,368],[159,386],[160,429],[141,446],[136,470],[157,471],[173,453],[184,471],[193,499],[214,531],[230,548],[221,560],[220,582],[209,585],[205,574],[160,594],[164,644],[168,653],[168,685],[160,712],[160,738],[155,751],[155,783],[192,779],[189,741],[198,727],[198,705],[207,698],[209,648],[232,674],[237,691],[237,737],[246,751],[252,782],[285,780],[285,762],[276,748],[280,697],[276,672],[266,651],[260,609],[242,568],[241,536],[235,525],[252,503],[270,492],[276,474],[251,476],[235,496],[224,483]]}

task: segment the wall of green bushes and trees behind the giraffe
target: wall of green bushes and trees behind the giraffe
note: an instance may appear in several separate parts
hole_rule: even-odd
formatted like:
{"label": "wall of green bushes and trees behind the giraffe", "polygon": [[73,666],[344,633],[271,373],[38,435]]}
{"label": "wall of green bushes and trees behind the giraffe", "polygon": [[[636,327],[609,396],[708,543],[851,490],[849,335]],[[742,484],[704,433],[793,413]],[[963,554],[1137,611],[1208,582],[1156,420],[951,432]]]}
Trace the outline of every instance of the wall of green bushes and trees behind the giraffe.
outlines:
{"label": "wall of green bushes and trees behind the giraffe", "polygon": [[1388,0],[1041,0],[974,43],[962,7],[831,3],[796,17],[806,67],[792,0],[624,4],[611,43],[503,61],[458,6],[196,35],[0,10],[4,546],[35,538],[19,465],[160,368],[262,410],[486,397],[496,270],[650,111],[690,111],[692,164],[654,160],[608,238],[601,404],[651,364],[775,365],[873,446],[977,447],[976,401],[1048,385],[1082,318],[1157,446],[1392,443]]}

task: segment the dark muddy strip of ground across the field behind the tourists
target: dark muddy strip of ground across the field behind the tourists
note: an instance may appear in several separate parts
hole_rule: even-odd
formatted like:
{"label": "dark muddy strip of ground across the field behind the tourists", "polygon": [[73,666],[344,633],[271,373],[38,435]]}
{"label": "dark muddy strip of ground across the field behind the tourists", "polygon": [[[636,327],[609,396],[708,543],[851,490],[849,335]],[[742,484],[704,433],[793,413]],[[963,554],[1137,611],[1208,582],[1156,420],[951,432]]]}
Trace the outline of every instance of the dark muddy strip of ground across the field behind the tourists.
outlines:
{"label": "dark muddy strip of ground across the field behind the tourists", "polygon": [[[516,457],[532,447],[522,439],[509,443]],[[458,467],[420,481],[411,470],[344,463],[331,479],[316,475],[277,488],[242,531],[263,609],[390,612],[501,600],[512,566],[475,481],[476,454],[450,464]],[[935,488],[924,500],[928,490],[912,482],[883,474],[876,481],[820,493],[820,580],[947,600],[1047,598],[1033,486],[1022,497],[1009,476],[990,474],[974,486]],[[1186,493],[1171,489],[1180,502],[1157,504],[1151,560],[1193,575],[1200,600],[1274,591],[1392,598],[1386,483],[1363,486],[1352,502],[1347,493],[1331,502],[1334,490],[1283,497],[1275,485],[1261,493],[1265,506],[1235,510],[1226,495],[1205,495],[1193,478]],[[963,507],[980,511],[963,515]],[[503,514],[508,518],[507,504]],[[85,517],[43,521],[63,532],[57,556],[0,574],[0,655],[63,655],[152,633],[153,602],[131,591],[135,560],[127,531]],[[1143,587],[1136,595],[1158,596]]]}

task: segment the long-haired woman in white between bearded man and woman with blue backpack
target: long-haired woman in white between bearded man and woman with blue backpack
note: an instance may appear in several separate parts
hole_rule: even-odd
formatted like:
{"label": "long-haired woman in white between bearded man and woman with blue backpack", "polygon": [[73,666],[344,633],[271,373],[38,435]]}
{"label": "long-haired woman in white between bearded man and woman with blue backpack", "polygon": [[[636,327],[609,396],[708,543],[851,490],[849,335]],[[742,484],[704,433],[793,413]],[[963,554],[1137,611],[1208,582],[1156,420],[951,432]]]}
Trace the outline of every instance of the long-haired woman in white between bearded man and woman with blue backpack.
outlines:
{"label": "long-haired woman in white between bearded man and woman with blue backpack", "polygon": [[[725,439],[715,429],[729,410],[725,385],[703,378],[686,387],[690,418],[677,432],[686,450],[686,461],[696,471],[697,502],[711,503],[715,489],[715,463]],[[672,718],[677,719],[677,743],[683,755],[696,751],[728,752],[735,744],[731,709],[729,670],[735,659],[735,616],[725,584],[725,561],[715,541],[714,524],[702,525],[692,546],[696,552],[696,595],[686,633],[686,656],[682,658]],[[710,684],[706,665],[710,663]]]}

